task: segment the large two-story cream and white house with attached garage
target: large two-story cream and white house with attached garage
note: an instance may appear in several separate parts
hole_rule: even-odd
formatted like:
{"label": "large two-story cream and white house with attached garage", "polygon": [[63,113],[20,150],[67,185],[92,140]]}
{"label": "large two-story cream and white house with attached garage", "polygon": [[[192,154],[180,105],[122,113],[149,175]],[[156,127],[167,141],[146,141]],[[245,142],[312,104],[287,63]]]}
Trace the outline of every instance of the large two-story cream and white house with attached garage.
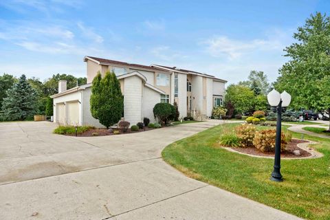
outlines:
{"label": "large two-story cream and white house with attached garage", "polygon": [[72,125],[102,124],[91,116],[91,82],[97,72],[114,72],[124,95],[124,120],[131,125],[149,118],[155,122],[153,107],[159,102],[177,102],[180,118],[187,114],[210,117],[212,108],[223,103],[227,81],[177,67],[138,65],[85,56],[87,84],[67,90],[66,81],[58,83],[54,99],[54,122]]}

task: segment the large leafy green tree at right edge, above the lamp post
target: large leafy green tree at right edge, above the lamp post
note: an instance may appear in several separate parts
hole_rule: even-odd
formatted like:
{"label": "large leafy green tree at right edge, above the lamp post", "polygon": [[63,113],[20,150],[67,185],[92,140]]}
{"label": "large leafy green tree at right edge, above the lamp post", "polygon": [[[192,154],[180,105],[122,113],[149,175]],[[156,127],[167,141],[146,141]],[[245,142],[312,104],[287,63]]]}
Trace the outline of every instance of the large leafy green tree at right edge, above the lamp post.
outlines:
{"label": "large leafy green tree at right edge, above the lamp post", "polygon": [[274,83],[278,91],[292,96],[295,109],[330,113],[330,17],[316,12],[294,34],[296,43],[285,48],[290,60]]}

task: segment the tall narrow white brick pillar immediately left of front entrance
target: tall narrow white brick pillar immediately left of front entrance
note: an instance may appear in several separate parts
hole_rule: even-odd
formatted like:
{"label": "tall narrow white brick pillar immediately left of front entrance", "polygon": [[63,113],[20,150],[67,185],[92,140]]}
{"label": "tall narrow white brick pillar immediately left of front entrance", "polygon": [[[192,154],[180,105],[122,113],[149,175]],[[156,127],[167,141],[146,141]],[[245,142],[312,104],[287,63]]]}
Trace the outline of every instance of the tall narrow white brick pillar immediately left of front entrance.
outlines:
{"label": "tall narrow white brick pillar immediately left of front entrance", "polygon": [[177,89],[177,104],[181,118],[187,116],[187,75],[177,74],[177,80],[179,85]]}

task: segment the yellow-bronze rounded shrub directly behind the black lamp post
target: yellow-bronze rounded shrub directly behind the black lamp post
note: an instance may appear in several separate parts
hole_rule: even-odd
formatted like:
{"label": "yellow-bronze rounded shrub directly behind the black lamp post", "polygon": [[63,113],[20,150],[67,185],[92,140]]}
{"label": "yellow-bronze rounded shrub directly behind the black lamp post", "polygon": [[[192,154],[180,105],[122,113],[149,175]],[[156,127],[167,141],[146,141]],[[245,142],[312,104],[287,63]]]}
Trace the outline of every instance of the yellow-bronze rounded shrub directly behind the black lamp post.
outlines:
{"label": "yellow-bronze rounded shrub directly behind the black lamp post", "polygon": [[[274,152],[275,151],[275,140],[276,140],[276,130],[263,130],[256,131],[254,135],[253,144],[254,146],[262,152]],[[285,140],[285,133],[281,134],[281,151],[285,151],[285,145],[287,141]]]}

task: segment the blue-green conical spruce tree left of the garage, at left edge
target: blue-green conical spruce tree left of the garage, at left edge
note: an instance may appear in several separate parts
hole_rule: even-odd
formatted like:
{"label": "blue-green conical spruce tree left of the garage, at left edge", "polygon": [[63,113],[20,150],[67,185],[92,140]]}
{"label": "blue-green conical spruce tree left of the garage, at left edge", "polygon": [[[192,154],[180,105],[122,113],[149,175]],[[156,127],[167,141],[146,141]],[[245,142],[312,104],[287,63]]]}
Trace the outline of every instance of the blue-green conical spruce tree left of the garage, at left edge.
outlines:
{"label": "blue-green conical spruce tree left of the garage, at left edge", "polygon": [[2,110],[6,120],[26,120],[36,112],[36,91],[23,74],[19,82],[12,85],[3,98]]}

